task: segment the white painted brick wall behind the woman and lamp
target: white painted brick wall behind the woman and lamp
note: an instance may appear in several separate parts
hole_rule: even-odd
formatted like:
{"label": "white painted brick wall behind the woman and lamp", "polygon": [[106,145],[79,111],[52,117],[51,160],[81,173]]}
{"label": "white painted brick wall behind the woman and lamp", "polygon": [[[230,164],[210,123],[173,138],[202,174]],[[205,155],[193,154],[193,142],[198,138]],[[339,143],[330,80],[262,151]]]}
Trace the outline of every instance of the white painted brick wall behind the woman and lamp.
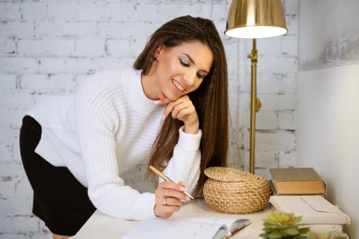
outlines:
{"label": "white painted brick wall behind the woman and lamp", "polygon": [[[213,5],[212,5],[213,4]],[[214,20],[230,76],[229,166],[248,169],[250,40],[224,36],[230,1],[0,0],[0,239],[51,238],[31,214],[32,191],[18,149],[25,111],[49,94],[73,92],[98,70],[133,64],[152,31],[176,16]],[[284,0],[289,33],[257,41],[256,173],[295,165],[297,1]],[[144,190],[144,167],[127,173]]]}

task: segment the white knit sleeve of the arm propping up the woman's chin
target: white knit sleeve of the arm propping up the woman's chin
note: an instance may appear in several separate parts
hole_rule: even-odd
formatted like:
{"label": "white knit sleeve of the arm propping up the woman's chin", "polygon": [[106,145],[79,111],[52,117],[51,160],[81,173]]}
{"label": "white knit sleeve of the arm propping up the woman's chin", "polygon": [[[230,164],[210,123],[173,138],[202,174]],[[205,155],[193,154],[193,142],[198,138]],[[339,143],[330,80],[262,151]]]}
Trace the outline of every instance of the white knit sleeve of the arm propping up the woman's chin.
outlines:
{"label": "white knit sleeve of the arm propping up the woman's chin", "polygon": [[196,135],[183,132],[179,129],[178,143],[174,147],[173,156],[168,166],[163,170],[174,182],[184,182],[187,192],[194,191],[200,178],[200,140],[202,130]]}

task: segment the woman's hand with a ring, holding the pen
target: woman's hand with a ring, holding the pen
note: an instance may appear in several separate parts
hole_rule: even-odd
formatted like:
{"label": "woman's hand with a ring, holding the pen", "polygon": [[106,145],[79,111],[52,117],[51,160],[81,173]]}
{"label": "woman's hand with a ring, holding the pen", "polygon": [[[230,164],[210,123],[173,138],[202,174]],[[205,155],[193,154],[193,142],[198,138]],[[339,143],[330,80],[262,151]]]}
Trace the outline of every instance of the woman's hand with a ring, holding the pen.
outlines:
{"label": "woman's hand with a ring, holding the pen", "polygon": [[185,195],[185,185],[181,182],[164,181],[157,185],[155,191],[155,215],[161,218],[167,218],[174,212],[177,212],[183,206],[189,197]]}

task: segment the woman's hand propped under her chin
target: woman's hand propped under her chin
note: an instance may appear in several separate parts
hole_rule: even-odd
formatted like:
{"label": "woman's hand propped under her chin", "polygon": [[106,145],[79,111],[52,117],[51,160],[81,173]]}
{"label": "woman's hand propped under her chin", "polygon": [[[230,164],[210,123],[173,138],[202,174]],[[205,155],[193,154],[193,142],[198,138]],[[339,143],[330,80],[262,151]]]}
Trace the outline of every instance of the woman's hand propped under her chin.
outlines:
{"label": "woman's hand propped under her chin", "polygon": [[187,95],[170,101],[163,94],[159,94],[157,104],[165,104],[163,118],[171,114],[172,118],[179,119],[185,124],[183,131],[187,134],[197,134],[200,127],[196,108]]}

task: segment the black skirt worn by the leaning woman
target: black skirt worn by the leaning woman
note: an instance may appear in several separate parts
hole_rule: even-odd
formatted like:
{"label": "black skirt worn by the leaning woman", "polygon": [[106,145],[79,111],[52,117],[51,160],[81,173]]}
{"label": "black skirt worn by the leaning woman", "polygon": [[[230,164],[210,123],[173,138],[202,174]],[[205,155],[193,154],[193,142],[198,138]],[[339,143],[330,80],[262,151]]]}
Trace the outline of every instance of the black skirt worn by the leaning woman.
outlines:
{"label": "black skirt worn by the leaning woman", "polygon": [[34,152],[41,137],[41,126],[28,115],[20,131],[21,158],[34,190],[33,213],[53,234],[73,236],[96,208],[88,197],[88,188],[66,167],[54,167]]}

